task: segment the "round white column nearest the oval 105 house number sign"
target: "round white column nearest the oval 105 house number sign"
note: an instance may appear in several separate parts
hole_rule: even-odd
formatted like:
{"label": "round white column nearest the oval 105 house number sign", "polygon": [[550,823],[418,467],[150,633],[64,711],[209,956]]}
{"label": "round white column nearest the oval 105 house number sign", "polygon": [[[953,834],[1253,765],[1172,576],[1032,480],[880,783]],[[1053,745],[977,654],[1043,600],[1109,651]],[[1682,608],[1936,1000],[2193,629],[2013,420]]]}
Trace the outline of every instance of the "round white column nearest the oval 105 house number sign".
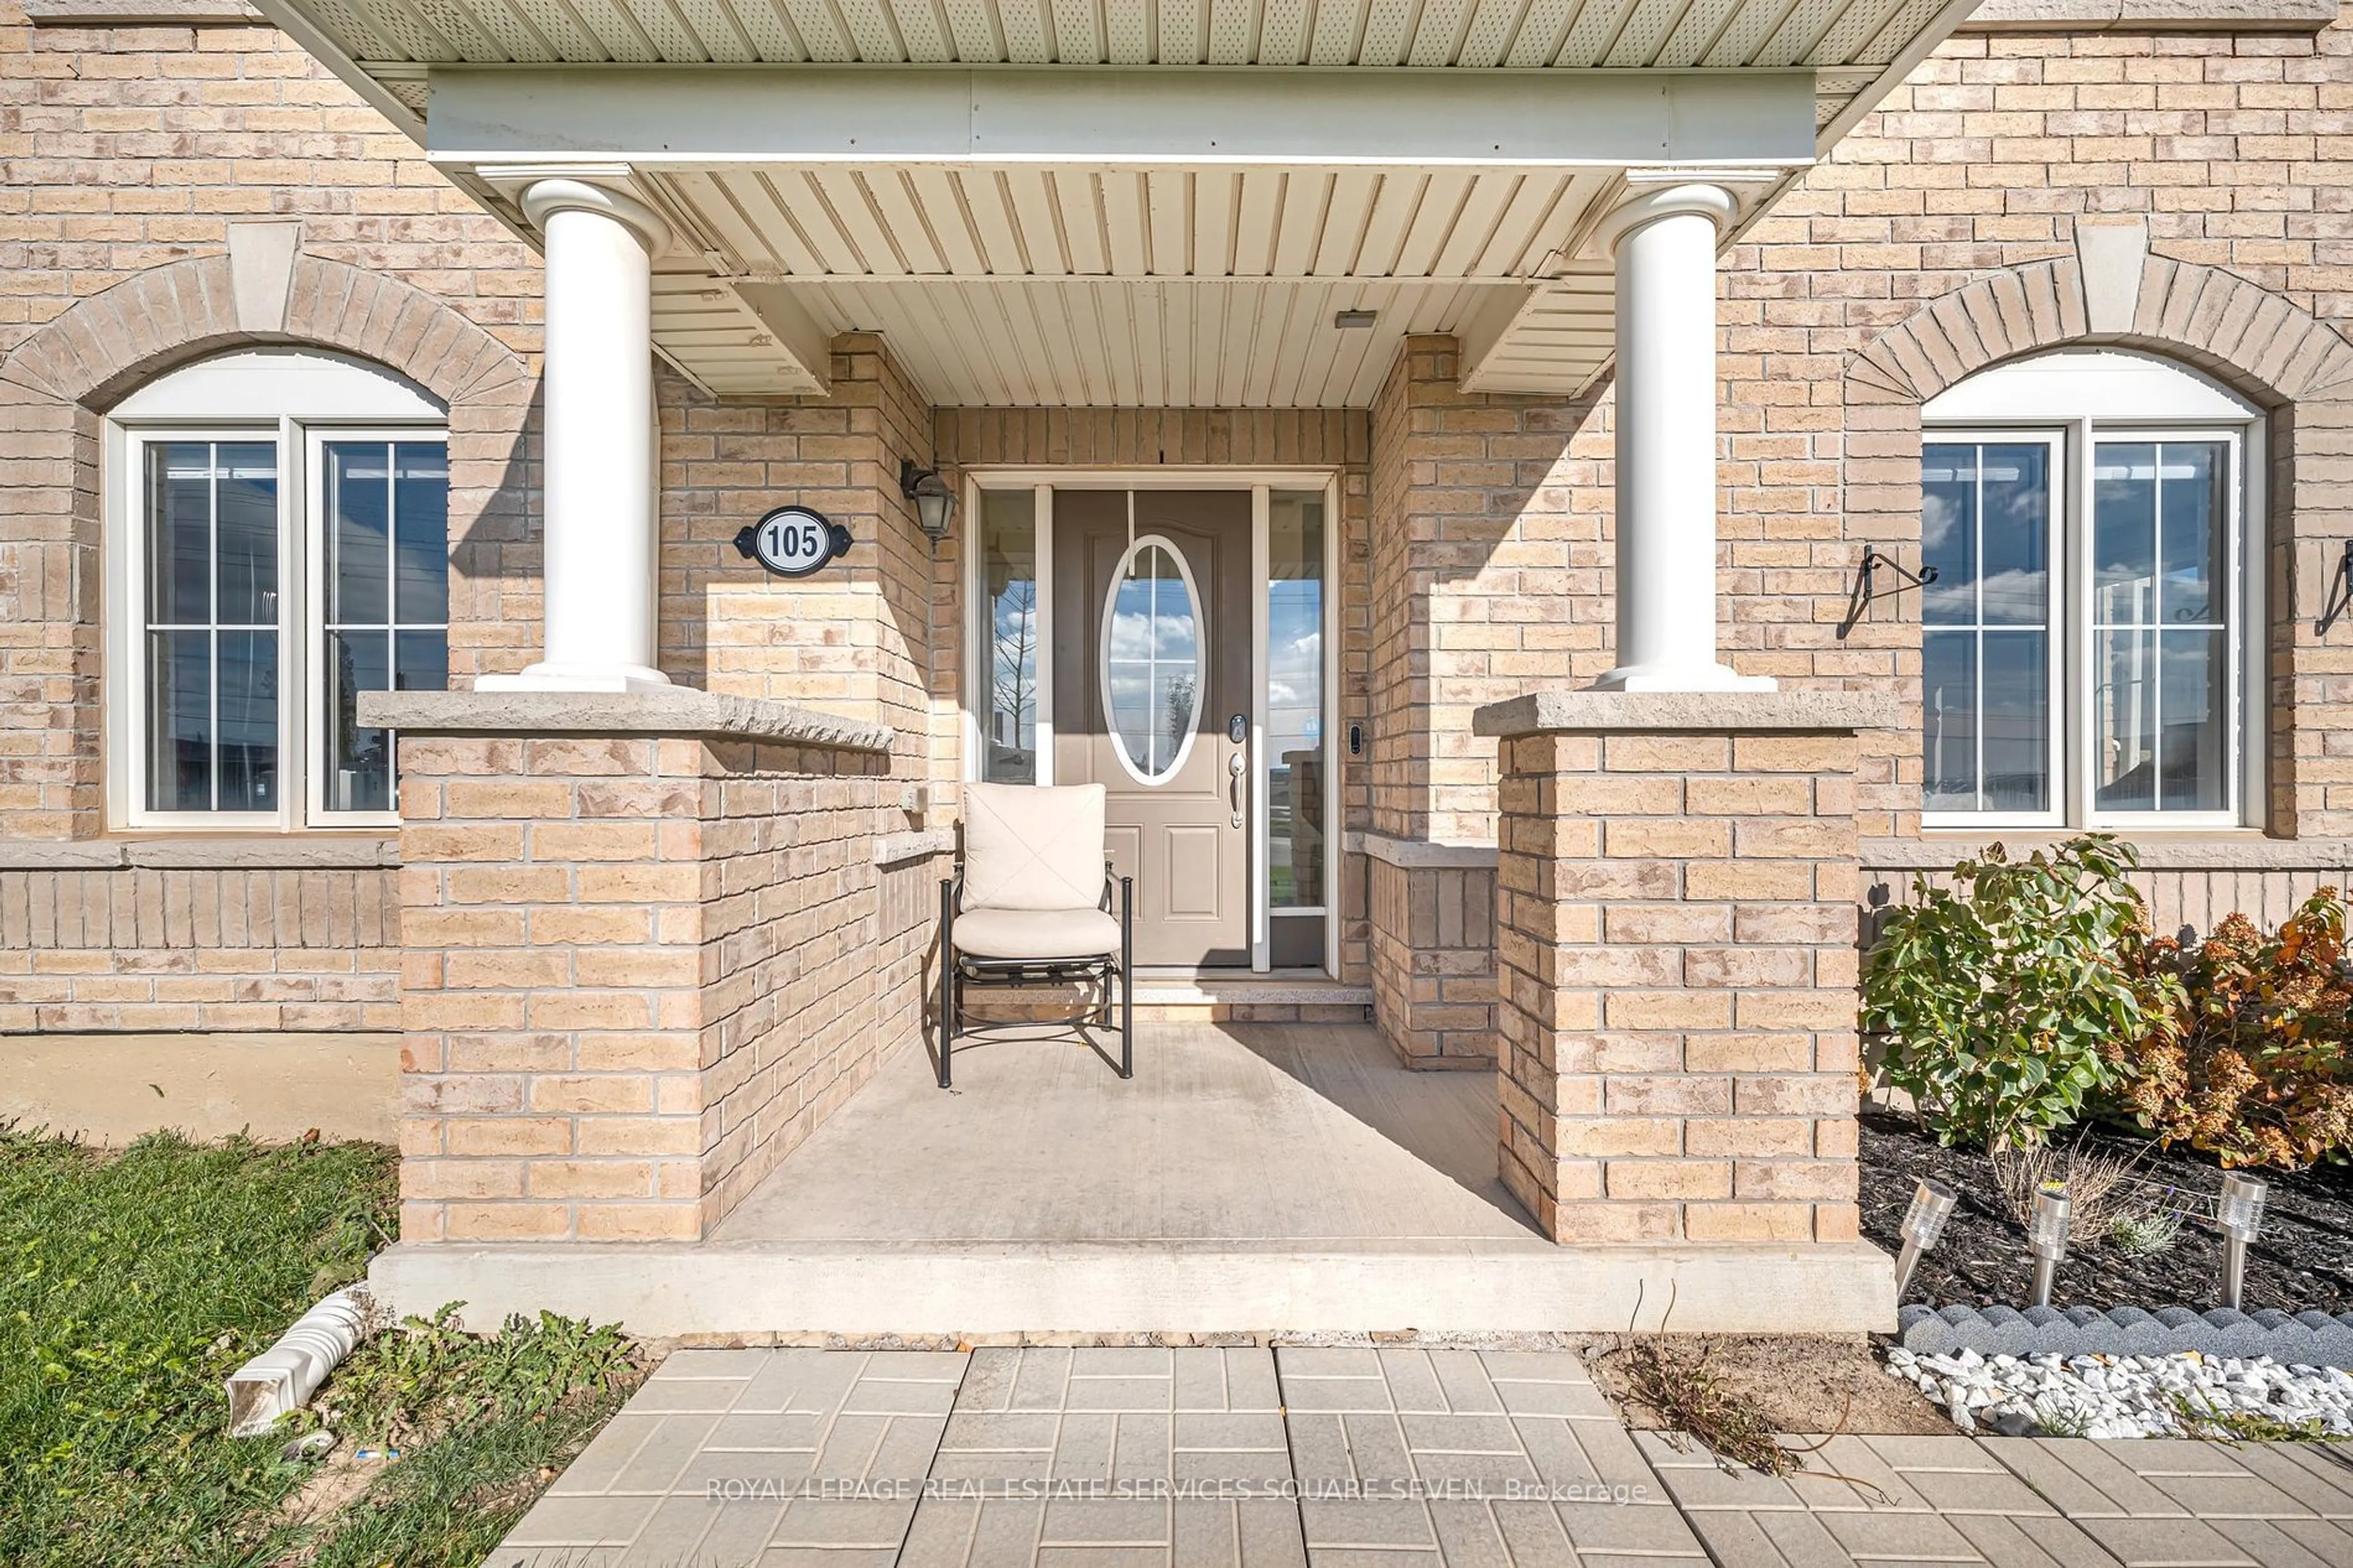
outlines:
{"label": "round white column nearest the oval 105 house number sign", "polygon": [[546,647],[478,690],[631,692],[654,664],[659,525],[654,417],[656,212],[579,179],[541,179],[522,212],[546,238]]}

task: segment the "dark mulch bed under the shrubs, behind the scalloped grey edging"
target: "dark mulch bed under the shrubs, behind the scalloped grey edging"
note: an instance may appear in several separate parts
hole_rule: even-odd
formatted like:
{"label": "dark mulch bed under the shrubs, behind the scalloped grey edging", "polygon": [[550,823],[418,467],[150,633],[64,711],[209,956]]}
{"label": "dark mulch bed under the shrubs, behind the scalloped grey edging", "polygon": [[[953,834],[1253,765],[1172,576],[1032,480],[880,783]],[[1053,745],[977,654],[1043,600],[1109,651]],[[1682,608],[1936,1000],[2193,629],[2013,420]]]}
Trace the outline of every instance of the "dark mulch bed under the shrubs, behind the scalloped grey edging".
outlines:
{"label": "dark mulch bed under the shrubs, behind the scalloped grey edging", "polygon": [[[2212,1198],[2221,1168],[2198,1154],[2160,1151],[2141,1140],[2082,1132],[2097,1149],[2134,1149],[2139,1175],[2158,1189],[2174,1187]],[[1993,1165],[1979,1149],[1944,1149],[1915,1123],[1864,1114],[1864,1236],[1887,1253],[1904,1245],[1897,1227],[1913,1184],[1937,1177],[1960,1194],[1944,1238],[1920,1260],[1906,1302],[1934,1307],[2026,1307],[2033,1300],[2033,1260],[2026,1231],[2002,1205]],[[2254,1172],[2271,1182],[2264,1229],[2247,1250],[2247,1290],[2240,1307],[2259,1311],[2353,1311],[2353,1168]],[[2148,1194],[2162,1203],[2162,1194]],[[2212,1212],[2212,1205],[2209,1210]],[[2054,1307],[2221,1307],[2221,1231],[2191,1222],[2167,1253],[2129,1257],[2108,1241],[2073,1243],[2052,1285]]]}

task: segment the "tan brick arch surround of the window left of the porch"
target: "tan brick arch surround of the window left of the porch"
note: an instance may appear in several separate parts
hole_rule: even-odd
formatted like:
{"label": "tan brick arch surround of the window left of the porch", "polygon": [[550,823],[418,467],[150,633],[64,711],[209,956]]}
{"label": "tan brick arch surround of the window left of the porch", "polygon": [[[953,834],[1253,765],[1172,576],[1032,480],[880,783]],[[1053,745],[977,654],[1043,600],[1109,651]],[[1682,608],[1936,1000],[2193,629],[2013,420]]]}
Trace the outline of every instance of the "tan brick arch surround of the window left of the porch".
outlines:
{"label": "tan brick arch surround of the window left of the porch", "polygon": [[240,325],[226,254],[148,268],[75,301],[0,360],[0,831],[104,831],[101,433],[153,377],[233,348],[374,360],[449,410],[452,678],[536,645],[532,367],[402,278],[296,254],[278,330]]}

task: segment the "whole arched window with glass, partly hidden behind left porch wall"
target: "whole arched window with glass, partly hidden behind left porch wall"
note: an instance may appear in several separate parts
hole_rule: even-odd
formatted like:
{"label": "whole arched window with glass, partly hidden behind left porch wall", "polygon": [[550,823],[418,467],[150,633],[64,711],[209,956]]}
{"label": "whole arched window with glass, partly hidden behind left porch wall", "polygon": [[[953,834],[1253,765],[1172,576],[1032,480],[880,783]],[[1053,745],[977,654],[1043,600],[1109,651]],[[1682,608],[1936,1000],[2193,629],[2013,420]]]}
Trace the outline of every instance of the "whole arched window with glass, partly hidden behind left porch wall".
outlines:
{"label": "whole arched window with glass, partly hidden behind left porch wall", "polygon": [[106,426],[118,826],[393,822],[360,692],[449,680],[447,410],[334,353],[226,353]]}

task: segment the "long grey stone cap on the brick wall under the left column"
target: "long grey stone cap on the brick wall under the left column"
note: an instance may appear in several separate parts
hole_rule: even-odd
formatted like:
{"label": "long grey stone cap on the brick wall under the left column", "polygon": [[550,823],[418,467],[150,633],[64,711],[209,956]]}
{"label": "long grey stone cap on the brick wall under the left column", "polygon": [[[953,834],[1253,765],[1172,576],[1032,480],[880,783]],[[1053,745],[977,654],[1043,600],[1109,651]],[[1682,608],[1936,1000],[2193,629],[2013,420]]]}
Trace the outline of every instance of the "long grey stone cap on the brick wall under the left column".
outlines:
{"label": "long grey stone cap on the brick wall under the left column", "polygon": [[668,692],[360,692],[360,723],[402,735],[692,735],[833,751],[889,751],[894,739],[889,725],[692,685]]}

